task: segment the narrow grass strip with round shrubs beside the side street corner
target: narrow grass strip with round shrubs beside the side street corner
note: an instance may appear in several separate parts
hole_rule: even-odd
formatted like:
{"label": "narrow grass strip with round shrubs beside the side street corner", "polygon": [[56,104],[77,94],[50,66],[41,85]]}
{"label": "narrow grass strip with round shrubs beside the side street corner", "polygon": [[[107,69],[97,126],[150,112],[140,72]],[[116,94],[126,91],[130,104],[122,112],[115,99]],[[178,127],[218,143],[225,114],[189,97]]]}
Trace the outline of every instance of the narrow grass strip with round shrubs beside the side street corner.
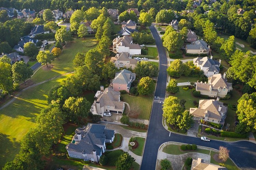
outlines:
{"label": "narrow grass strip with round shrubs beside the side street corner", "polygon": [[197,153],[203,153],[203,154],[210,154],[209,150],[205,150],[205,149],[197,149],[195,151],[193,150],[186,150],[183,151],[180,149],[181,146],[179,145],[167,145],[167,147],[163,147],[163,152],[168,153],[168,154],[172,154],[172,155],[181,155],[184,153],[189,153],[189,152],[197,152]]}

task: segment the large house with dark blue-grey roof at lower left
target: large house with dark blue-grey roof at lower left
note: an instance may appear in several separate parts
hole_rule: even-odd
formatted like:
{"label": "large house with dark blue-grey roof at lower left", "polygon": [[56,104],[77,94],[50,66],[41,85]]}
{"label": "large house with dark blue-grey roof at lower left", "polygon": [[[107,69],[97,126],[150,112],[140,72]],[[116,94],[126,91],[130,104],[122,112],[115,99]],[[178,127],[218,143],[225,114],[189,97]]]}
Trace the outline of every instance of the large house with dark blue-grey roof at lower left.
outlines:
{"label": "large house with dark blue-grey roof at lower left", "polygon": [[114,130],[106,129],[105,125],[88,123],[75,130],[72,142],[66,149],[71,158],[99,162],[106,149],[105,143],[112,143],[114,134]]}

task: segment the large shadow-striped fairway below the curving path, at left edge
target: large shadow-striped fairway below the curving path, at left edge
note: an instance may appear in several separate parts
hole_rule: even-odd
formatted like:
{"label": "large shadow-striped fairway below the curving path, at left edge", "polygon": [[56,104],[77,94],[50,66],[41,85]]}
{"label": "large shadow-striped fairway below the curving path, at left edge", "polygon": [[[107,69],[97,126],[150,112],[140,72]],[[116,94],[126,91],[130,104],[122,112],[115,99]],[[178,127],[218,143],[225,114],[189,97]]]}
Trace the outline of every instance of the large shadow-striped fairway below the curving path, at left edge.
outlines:
{"label": "large shadow-striped fairway below the curving path, at left edge", "polygon": [[35,118],[41,109],[48,106],[49,90],[68,76],[70,74],[28,89],[0,111],[0,168],[18,154],[23,136],[35,126]]}

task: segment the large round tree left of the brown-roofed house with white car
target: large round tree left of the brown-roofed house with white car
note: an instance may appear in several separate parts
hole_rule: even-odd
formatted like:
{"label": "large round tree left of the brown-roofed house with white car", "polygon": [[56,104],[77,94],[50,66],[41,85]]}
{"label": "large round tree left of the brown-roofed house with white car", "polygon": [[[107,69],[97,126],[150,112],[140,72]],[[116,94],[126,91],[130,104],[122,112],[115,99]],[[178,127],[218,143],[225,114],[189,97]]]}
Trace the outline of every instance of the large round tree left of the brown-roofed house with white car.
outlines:
{"label": "large round tree left of the brown-roofed house with white car", "polygon": [[86,118],[90,112],[91,104],[83,97],[69,97],[62,108],[68,113],[68,117],[72,121],[82,123],[83,119]]}

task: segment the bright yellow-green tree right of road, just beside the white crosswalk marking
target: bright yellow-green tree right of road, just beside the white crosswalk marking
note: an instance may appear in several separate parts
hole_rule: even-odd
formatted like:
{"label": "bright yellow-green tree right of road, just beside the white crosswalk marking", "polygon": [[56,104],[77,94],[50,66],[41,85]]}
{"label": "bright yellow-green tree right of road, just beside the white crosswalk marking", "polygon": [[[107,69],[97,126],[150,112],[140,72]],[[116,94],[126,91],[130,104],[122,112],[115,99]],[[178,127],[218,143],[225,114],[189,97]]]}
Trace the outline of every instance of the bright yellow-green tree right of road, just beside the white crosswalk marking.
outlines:
{"label": "bright yellow-green tree right of road, just beside the white crosswalk marking", "polygon": [[167,123],[175,124],[177,117],[181,115],[181,113],[182,108],[177,97],[169,96],[165,99],[163,103],[163,117],[165,117]]}

